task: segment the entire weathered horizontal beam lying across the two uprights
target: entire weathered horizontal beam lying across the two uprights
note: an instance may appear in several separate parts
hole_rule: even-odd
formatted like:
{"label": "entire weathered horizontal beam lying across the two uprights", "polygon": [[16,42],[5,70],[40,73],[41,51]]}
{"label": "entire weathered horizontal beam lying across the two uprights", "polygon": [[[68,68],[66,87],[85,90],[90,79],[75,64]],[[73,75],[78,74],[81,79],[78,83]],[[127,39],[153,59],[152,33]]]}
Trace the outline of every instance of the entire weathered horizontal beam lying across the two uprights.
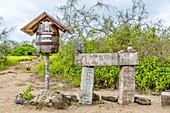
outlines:
{"label": "entire weathered horizontal beam lying across the two uprights", "polygon": [[77,66],[139,65],[137,53],[75,54]]}

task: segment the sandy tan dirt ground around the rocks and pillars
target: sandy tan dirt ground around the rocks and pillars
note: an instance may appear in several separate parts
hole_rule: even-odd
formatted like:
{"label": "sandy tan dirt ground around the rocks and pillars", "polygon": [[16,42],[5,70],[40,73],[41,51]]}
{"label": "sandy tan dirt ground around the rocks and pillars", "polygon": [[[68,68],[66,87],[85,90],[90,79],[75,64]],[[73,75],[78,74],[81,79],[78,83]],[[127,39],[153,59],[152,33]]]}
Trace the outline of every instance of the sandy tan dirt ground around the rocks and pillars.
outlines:
{"label": "sandy tan dirt ground around the rocks and pillars", "polygon": [[[160,96],[139,95],[151,99],[152,105],[142,106],[136,103],[130,105],[118,105],[106,102],[98,105],[73,105],[67,110],[49,109],[36,110],[35,107],[17,105],[14,103],[16,95],[26,89],[28,85],[34,86],[35,94],[44,90],[44,80],[38,79],[35,73],[22,73],[25,64],[35,67],[39,61],[21,62],[17,66],[10,67],[0,72],[0,113],[170,113],[170,106],[161,106]],[[63,84],[57,84],[51,80],[51,90],[57,90],[64,94],[79,95],[79,88],[70,88]],[[62,87],[62,88],[61,88]],[[94,91],[100,96],[117,96],[117,90],[103,89]]]}

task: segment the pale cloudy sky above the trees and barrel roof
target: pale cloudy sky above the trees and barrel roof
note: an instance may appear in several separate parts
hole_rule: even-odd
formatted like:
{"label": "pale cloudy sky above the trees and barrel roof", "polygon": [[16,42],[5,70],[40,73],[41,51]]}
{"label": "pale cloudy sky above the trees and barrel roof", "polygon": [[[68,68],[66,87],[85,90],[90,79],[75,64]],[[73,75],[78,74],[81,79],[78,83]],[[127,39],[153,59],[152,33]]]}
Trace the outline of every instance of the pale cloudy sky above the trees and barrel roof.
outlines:
{"label": "pale cloudy sky above the trees and barrel roof", "polygon": [[[94,5],[98,0],[80,0],[81,4],[86,6]],[[131,0],[100,0],[103,3],[110,4],[120,10],[131,8]],[[170,26],[170,0],[143,0],[146,10],[153,20],[162,19],[166,26]],[[3,17],[3,26],[7,28],[14,27],[10,33],[9,39],[18,42],[33,40],[34,36],[28,36],[20,31],[22,27],[31,22],[42,12],[47,12],[55,16],[58,12],[56,6],[66,4],[66,0],[0,0],[0,16]],[[60,15],[58,15],[60,16]]]}

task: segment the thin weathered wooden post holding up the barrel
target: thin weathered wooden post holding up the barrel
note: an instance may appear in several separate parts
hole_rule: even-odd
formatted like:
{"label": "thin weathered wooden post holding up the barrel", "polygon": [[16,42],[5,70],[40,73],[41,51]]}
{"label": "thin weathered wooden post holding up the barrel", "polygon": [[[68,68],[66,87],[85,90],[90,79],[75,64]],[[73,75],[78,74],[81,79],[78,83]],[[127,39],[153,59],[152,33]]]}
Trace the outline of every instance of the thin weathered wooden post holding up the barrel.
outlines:
{"label": "thin weathered wooden post holding up the barrel", "polygon": [[46,53],[46,65],[45,65],[45,89],[49,89],[49,77],[50,77],[50,72],[49,72],[49,53]]}

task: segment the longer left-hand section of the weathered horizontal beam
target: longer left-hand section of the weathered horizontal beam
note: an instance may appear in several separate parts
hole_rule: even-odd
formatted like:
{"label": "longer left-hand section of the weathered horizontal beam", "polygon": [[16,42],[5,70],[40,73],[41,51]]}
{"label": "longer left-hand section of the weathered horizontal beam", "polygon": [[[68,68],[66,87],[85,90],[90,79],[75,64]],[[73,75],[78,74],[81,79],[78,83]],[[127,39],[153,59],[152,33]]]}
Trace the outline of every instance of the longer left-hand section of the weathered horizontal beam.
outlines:
{"label": "longer left-hand section of the weathered horizontal beam", "polygon": [[118,53],[75,54],[78,66],[113,66],[118,65]]}

